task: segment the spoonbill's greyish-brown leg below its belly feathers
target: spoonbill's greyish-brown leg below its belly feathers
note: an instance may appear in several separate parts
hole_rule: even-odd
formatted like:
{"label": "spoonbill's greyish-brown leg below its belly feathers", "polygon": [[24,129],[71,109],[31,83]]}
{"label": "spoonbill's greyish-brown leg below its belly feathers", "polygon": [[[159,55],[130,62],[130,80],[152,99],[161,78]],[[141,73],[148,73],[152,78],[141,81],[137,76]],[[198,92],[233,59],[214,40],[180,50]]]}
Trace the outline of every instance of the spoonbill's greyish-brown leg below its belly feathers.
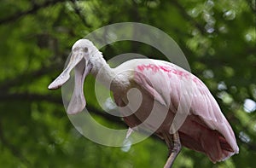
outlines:
{"label": "spoonbill's greyish-brown leg below its belly feathers", "polygon": [[181,150],[181,143],[179,140],[178,132],[175,132],[172,135],[169,133],[164,134],[164,139],[169,149],[169,158],[167,159],[164,168],[171,168],[173,161],[177,158],[177,154],[179,154]]}

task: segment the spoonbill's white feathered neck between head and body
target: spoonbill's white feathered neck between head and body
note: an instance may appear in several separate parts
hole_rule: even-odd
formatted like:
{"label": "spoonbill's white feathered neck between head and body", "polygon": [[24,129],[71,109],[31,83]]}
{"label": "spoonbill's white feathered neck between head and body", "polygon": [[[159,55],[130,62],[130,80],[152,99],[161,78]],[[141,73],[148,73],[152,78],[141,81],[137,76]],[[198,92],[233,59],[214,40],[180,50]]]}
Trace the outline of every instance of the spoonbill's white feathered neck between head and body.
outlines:
{"label": "spoonbill's white feathered neck between head and body", "polygon": [[119,88],[121,84],[119,79],[117,79],[116,73],[113,68],[108,66],[108,63],[103,58],[101,52],[97,52],[93,58],[91,58],[92,69],[91,74],[96,78],[96,81],[105,85],[110,90],[115,90]]}

